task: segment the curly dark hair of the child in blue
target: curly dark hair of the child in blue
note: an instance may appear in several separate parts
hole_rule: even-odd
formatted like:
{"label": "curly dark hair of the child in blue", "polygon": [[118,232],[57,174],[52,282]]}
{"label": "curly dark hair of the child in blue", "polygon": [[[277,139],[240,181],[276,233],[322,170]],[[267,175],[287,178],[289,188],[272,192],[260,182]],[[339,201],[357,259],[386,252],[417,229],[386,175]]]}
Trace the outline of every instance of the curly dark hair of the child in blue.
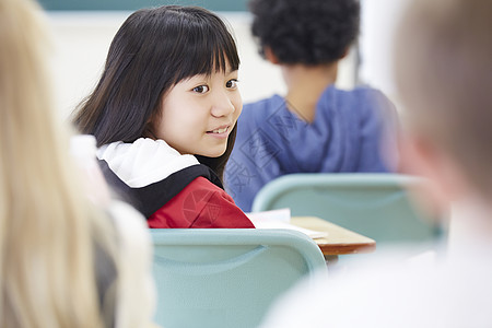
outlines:
{"label": "curly dark hair of the child in blue", "polygon": [[359,34],[359,0],[251,0],[249,10],[260,54],[269,47],[280,63],[337,61]]}

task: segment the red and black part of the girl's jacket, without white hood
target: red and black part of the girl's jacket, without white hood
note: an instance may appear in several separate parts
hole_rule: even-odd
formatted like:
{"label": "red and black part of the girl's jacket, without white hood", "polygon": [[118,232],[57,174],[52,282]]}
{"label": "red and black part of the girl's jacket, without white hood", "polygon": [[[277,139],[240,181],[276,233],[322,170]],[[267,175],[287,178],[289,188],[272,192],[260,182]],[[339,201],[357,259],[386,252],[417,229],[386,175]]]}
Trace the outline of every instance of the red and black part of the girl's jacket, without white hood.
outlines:
{"label": "red and black part of the girl's jacket, without white hood", "polygon": [[106,180],[150,227],[255,227],[206,165],[192,165],[154,184],[131,188],[99,161]]}

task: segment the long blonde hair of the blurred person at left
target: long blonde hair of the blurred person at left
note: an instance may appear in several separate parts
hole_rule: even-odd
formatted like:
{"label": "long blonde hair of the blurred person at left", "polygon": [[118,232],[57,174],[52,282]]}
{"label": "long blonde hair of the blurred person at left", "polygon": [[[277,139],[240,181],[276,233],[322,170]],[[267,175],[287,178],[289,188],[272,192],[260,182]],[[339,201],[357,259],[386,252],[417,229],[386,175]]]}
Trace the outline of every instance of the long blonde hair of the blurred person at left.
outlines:
{"label": "long blonde hair of the blurred person at left", "polygon": [[0,326],[103,327],[95,245],[112,260],[115,236],[75,179],[43,20],[33,1],[0,0]]}

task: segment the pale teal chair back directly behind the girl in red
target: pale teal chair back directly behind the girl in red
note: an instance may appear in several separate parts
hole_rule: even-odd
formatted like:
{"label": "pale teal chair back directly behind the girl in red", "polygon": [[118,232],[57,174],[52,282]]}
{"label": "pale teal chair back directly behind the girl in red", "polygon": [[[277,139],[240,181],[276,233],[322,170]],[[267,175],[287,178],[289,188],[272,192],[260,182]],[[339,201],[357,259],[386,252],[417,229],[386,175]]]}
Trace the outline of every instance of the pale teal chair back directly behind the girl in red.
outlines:
{"label": "pale teal chair back directly behind the girl in red", "polygon": [[154,229],[155,323],[253,328],[295,282],[326,270],[318,246],[288,230]]}

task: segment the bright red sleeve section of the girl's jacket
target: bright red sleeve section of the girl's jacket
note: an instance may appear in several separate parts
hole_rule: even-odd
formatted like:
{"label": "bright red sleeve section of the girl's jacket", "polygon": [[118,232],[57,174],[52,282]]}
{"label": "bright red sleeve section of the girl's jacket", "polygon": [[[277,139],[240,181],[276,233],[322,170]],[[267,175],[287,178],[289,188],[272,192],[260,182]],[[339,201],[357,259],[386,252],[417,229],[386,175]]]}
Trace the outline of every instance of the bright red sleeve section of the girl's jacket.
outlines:
{"label": "bright red sleeve section of the girl's jacket", "polygon": [[150,227],[255,227],[223,189],[197,177],[149,219]]}

